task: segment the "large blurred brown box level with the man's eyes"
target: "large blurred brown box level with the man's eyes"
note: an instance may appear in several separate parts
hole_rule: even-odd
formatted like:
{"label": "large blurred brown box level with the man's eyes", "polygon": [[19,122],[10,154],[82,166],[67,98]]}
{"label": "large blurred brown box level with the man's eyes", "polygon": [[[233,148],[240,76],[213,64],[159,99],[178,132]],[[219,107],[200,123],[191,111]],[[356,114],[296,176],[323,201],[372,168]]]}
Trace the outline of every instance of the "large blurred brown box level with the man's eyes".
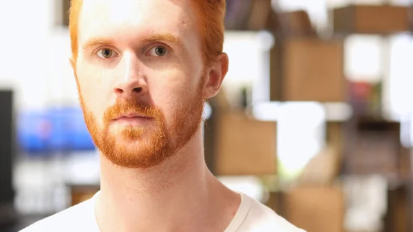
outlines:
{"label": "large blurred brown box level with the man's eyes", "polygon": [[348,100],[343,41],[290,38],[271,51],[271,101]]}

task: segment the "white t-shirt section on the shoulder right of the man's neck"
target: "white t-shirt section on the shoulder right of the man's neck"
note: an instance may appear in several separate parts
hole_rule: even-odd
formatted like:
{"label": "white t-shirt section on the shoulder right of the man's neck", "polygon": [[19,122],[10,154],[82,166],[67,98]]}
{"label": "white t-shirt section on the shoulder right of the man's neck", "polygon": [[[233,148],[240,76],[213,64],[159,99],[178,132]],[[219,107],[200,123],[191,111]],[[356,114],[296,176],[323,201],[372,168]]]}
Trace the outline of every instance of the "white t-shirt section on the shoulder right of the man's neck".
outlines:
{"label": "white t-shirt section on the shoulder right of the man's neck", "polygon": [[[245,227],[245,230],[243,230]],[[305,232],[275,213],[273,209],[251,198],[251,207],[245,221],[240,228],[242,232],[277,231],[277,232]]]}

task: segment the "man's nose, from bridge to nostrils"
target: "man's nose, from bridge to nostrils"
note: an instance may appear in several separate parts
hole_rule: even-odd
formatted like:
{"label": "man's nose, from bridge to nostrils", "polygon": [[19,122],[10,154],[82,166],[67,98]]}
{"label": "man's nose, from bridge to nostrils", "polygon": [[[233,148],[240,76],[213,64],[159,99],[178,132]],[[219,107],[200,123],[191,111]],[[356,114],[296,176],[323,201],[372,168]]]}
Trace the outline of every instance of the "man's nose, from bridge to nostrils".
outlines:
{"label": "man's nose, from bridge to nostrils", "polygon": [[114,86],[114,92],[118,97],[136,98],[148,92],[145,76],[140,68],[138,58],[134,54],[125,53],[118,68],[122,70]]}

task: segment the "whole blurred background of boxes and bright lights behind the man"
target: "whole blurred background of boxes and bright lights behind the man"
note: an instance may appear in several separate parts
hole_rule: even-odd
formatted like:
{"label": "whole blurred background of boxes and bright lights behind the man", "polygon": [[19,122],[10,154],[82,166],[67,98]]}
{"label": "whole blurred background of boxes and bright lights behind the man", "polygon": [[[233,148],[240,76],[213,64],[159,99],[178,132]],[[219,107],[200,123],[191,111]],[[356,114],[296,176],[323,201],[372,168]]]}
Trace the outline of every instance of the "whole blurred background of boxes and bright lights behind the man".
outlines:
{"label": "whole blurred background of boxes and bright lights behind the man", "polygon": [[[226,1],[211,171],[308,232],[413,231],[413,1]],[[0,0],[2,232],[99,189],[68,8]]]}

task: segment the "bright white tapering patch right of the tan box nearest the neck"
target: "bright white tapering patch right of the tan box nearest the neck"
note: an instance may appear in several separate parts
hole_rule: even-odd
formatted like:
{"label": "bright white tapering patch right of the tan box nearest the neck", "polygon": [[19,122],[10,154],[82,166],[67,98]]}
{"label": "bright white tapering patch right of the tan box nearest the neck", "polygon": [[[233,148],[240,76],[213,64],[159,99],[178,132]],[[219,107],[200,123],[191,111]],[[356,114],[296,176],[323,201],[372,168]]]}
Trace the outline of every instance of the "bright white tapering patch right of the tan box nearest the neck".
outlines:
{"label": "bright white tapering patch right of the tan box nearest the neck", "polygon": [[285,103],[277,117],[277,154],[284,178],[295,178],[326,143],[326,112],[320,103]]}

